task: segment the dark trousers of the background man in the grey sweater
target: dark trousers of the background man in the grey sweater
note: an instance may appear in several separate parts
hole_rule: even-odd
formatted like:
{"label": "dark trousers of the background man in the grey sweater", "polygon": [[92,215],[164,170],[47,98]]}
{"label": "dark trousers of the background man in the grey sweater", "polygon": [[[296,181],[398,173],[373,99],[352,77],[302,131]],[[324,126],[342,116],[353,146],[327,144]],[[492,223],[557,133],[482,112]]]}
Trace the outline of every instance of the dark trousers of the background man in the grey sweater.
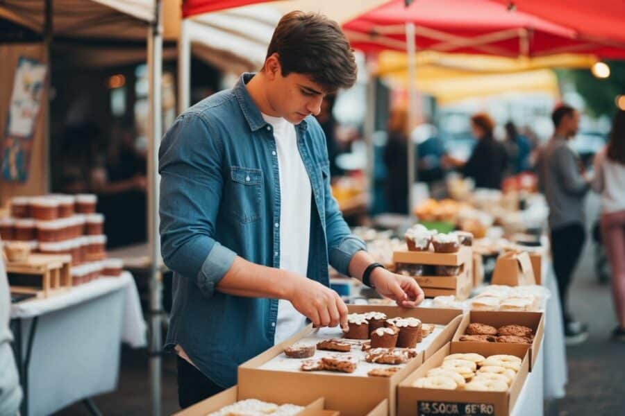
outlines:
{"label": "dark trousers of the background man in the grey sweater", "polygon": [[562,302],[563,322],[568,322],[568,292],[571,286],[573,271],[581,256],[586,239],[583,225],[571,224],[551,230],[551,255],[553,256],[553,272],[558,280],[560,302]]}

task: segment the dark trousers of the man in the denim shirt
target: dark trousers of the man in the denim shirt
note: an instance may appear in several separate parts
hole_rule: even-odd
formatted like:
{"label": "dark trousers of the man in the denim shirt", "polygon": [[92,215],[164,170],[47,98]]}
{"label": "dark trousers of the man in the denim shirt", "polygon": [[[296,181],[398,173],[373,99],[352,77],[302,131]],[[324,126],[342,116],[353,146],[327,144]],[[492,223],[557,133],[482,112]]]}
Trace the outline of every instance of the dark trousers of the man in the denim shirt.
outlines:
{"label": "dark trousers of the man in the denim shirt", "polygon": [[178,404],[188,408],[198,401],[217,395],[226,389],[213,383],[194,365],[178,356]]}

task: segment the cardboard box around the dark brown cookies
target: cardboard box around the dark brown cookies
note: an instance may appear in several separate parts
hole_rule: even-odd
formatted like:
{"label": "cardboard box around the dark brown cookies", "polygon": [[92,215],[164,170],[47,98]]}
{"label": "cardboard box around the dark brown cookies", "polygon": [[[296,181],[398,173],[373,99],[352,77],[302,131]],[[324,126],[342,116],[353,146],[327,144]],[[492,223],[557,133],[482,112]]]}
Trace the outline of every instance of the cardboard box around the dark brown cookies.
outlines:
{"label": "cardboard box around the dark brown cookies", "polygon": [[[508,344],[508,343],[471,343],[460,341],[460,336],[465,335],[470,323],[478,322],[495,328],[503,325],[523,325],[534,331],[534,339],[531,344]],[[499,354],[520,356],[524,352],[529,353],[529,370],[531,371],[540,350],[544,333],[544,313],[542,312],[508,312],[508,311],[469,311],[458,325],[453,335],[451,344],[458,352],[473,352],[475,348],[484,345],[486,349],[499,351]]]}

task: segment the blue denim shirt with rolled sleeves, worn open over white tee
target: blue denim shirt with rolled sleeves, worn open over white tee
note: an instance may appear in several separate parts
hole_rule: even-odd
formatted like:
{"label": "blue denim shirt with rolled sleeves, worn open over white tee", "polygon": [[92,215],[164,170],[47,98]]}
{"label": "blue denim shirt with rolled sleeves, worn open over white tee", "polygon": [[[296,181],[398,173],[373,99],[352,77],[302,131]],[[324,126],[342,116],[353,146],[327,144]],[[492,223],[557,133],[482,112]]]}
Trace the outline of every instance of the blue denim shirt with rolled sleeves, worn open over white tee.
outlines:
{"label": "blue denim shirt with rolled sleeves, worn open over white tee", "polygon": [[[274,345],[278,300],[226,295],[215,286],[235,256],[280,267],[280,181],[272,126],[244,73],[178,116],[158,153],[160,241],[174,271],[165,348],[181,345],[198,369],[226,388],[237,366]],[[313,190],[308,278],[329,286],[328,263],[348,275],[365,243],[350,234],[331,194],[326,138],[314,117],[296,125]]]}

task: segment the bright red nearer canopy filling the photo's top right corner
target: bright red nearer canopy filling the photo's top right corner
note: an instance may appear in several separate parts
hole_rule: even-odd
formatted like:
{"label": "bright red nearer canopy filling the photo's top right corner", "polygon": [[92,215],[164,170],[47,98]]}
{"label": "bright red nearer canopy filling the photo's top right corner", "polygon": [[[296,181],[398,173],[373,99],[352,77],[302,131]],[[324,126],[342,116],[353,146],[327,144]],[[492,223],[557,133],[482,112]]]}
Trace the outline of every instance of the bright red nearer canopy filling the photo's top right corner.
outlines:
{"label": "bright red nearer canopy filling the photo's top right corner", "polygon": [[[508,6],[510,10],[526,12],[573,28],[581,39],[601,40],[625,48],[625,1],[602,0],[493,0]],[[512,7],[513,6],[513,7]],[[583,51],[583,50],[582,50]],[[609,54],[608,54],[609,55]],[[609,58],[609,56],[606,57]]]}

